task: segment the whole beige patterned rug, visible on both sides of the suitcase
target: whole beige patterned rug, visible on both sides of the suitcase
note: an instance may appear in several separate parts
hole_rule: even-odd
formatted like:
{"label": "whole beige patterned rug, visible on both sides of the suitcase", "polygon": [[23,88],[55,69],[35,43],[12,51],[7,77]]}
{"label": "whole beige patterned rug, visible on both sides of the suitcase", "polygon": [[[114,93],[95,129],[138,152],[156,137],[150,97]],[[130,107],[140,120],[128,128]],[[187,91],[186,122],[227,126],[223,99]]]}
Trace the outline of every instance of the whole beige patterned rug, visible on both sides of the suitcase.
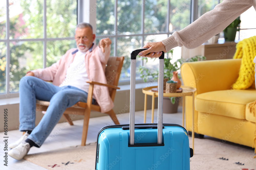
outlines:
{"label": "whole beige patterned rug, visible on both sides of the suitcase", "polygon": [[[190,146],[191,146],[191,137]],[[93,170],[96,143],[27,155],[24,159],[47,169]],[[254,149],[205,137],[195,138],[195,153],[190,158],[191,170],[256,170]],[[176,170],[176,169],[175,169]]]}

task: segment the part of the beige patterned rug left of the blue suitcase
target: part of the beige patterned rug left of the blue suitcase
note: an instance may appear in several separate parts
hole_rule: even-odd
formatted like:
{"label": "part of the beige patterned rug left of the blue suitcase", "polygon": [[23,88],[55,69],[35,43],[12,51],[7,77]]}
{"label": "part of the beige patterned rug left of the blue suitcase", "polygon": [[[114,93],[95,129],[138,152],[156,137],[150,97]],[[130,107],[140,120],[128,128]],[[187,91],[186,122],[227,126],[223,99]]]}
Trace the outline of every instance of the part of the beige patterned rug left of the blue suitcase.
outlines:
{"label": "part of the beige patterned rug left of the blue suitcase", "polygon": [[25,160],[46,169],[55,170],[92,170],[95,169],[96,143],[74,146],[53,151],[29,154]]}

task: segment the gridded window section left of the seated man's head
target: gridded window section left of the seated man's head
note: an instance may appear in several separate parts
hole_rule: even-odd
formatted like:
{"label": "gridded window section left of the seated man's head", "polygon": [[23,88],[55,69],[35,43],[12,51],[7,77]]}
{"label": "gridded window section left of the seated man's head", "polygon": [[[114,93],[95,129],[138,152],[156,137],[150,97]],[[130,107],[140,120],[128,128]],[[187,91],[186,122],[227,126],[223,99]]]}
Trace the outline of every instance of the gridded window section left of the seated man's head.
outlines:
{"label": "gridded window section left of the seated man's head", "polygon": [[0,4],[0,97],[17,96],[29,70],[76,47],[77,0],[3,0]]}

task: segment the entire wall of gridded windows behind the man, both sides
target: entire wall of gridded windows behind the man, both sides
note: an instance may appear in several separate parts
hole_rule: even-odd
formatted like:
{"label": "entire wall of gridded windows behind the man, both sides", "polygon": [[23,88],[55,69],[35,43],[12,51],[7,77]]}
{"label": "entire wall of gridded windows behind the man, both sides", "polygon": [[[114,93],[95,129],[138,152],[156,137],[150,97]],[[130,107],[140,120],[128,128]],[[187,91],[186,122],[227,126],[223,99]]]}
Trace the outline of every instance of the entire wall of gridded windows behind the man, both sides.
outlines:
{"label": "entire wall of gridded windows behind the man, both sides", "polygon": [[[49,67],[68,49],[76,47],[77,20],[95,22],[92,25],[97,44],[100,39],[110,37],[111,56],[125,57],[120,81],[129,82],[132,50],[143,47],[146,42],[164,40],[220,2],[222,0],[2,0],[0,98],[18,96],[19,80],[27,71]],[[78,11],[82,12],[77,15]],[[247,21],[255,15],[253,8],[241,15],[237,40],[255,35],[255,22]],[[89,19],[85,19],[88,16]],[[180,51],[180,47],[174,49],[174,60],[180,58]],[[137,66],[141,65],[157,69],[158,62],[138,58]],[[136,75],[136,80],[142,81],[140,75]]]}

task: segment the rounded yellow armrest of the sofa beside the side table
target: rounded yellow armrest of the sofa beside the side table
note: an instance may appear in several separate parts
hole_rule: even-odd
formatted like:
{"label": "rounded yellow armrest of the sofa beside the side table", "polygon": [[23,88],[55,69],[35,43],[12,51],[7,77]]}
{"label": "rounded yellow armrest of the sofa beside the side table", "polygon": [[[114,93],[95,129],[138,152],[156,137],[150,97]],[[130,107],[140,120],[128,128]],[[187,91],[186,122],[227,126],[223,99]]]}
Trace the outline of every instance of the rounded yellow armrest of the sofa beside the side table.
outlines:
{"label": "rounded yellow armrest of the sofa beside the side table", "polygon": [[223,59],[186,62],[181,66],[185,86],[197,89],[197,94],[208,91],[231,89],[236,82],[241,59]]}

